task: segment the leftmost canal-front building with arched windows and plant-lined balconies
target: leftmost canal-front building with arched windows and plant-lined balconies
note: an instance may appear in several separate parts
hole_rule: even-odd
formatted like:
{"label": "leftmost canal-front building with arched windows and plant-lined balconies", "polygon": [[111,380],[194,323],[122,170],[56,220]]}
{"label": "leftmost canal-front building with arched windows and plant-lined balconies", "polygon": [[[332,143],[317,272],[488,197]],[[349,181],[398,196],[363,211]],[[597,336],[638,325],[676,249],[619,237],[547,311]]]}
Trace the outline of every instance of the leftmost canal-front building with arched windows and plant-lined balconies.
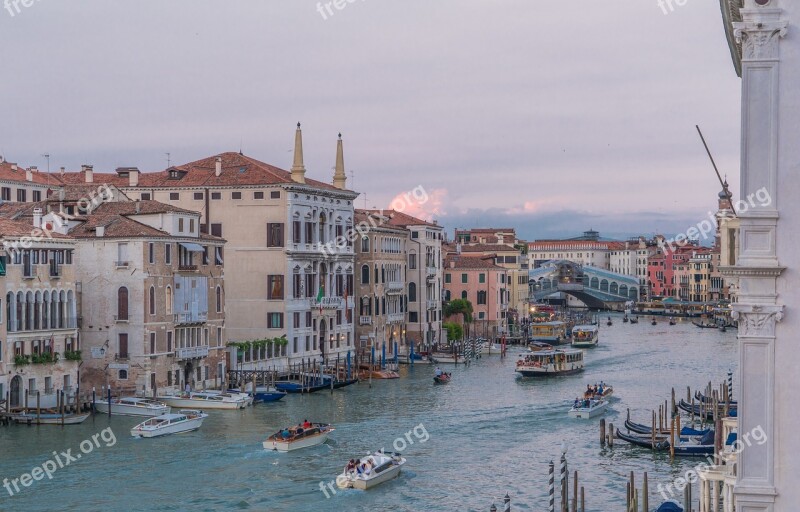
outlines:
{"label": "leftmost canal-front building with arched windows and plant-lined balconies", "polygon": [[[0,393],[12,408],[55,407],[76,394],[78,336],[75,241],[38,223],[0,219]],[[8,393],[8,394],[6,394]]]}

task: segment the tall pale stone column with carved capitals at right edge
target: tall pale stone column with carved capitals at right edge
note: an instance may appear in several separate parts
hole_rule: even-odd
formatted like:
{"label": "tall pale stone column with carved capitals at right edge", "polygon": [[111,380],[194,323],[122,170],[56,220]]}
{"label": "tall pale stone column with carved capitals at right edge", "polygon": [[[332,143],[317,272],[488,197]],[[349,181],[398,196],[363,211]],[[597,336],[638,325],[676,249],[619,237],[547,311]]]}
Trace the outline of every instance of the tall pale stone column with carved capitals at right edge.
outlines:
{"label": "tall pale stone column with carved capitals at right edge", "polygon": [[777,510],[775,326],[783,317],[777,300],[783,271],[776,241],[779,142],[789,142],[780,137],[780,41],[788,24],[778,1],[746,0],[742,22],[734,24],[742,45],[741,194],[734,203],[741,219],[740,254],[737,265],[724,272],[739,280],[733,313],[740,342],[739,438],[761,429],[768,439],[739,455],[734,493],[741,512]]}

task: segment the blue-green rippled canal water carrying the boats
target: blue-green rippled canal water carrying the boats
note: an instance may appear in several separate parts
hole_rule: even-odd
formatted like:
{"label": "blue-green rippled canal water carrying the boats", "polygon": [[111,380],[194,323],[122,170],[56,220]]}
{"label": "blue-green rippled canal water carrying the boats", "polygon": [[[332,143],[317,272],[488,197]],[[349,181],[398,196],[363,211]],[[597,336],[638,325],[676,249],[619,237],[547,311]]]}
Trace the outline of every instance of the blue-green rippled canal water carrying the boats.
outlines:
{"label": "blue-green rippled canal water carrying the boats", "polygon": [[[586,384],[604,380],[615,390],[607,422],[622,425],[629,407],[633,419],[649,423],[651,409],[669,399],[673,386],[681,397],[687,385],[694,390],[724,380],[736,369],[736,346],[733,332],[698,329],[685,320],[670,327],[665,321],[651,326],[644,317],[623,324],[616,317],[612,327],[601,326],[600,346],[587,351],[587,370],[576,376],[519,379],[514,352],[453,368],[449,385],[434,386],[433,367],[416,365],[401,368],[399,380],[373,381],[372,389],[362,383],[333,395],[211,411],[199,431],[157,439],[131,438],[139,420],[128,417],[97,416],[64,428],[0,428],[0,479],[30,472],[53,451],[71,449],[74,456],[82,441],[108,427],[116,438],[113,446],[98,438],[91,453],[13,497],[0,488],[0,511],[488,511],[493,502],[502,510],[506,493],[513,510],[541,511],[548,463],[555,460],[558,471],[562,443],[570,470],[579,471],[586,487],[587,510],[622,510],[630,471],[637,483],[648,471],[654,503],[657,484],[671,483],[698,461],[671,463],[619,440],[613,449],[601,448],[599,418],[568,418],[568,402]],[[328,444],[288,454],[261,447],[267,435],[305,418],[335,425]],[[367,492],[329,490],[325,497],[320,482],[330,482],[348,459],[381,447],[390,451],[397,438],[408,445],[398,479]]]}

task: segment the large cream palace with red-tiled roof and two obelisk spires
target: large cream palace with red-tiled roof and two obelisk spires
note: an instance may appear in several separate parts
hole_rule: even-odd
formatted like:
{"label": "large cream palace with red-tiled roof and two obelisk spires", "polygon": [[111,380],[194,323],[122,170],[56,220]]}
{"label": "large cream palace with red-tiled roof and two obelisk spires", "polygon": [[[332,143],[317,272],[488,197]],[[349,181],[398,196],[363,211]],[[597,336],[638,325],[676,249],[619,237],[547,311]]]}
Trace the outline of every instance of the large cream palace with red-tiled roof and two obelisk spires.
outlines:
{"label": "large cream palace with red-tiled roof and two obelisk spires", "polygon": [[[353,348],[355,257],[346,235],[358,194],[346,189],[341,137],[335,169],[330,184],[306,177],[298,123],[291,171],[222,153],[155,173],[85,167],[60,179],[199,212],[200,232],[227,241],[224,337],[249,347],[233,363],[280,368]],[[277,350],[249,344],[264,339],[287,341]]]}

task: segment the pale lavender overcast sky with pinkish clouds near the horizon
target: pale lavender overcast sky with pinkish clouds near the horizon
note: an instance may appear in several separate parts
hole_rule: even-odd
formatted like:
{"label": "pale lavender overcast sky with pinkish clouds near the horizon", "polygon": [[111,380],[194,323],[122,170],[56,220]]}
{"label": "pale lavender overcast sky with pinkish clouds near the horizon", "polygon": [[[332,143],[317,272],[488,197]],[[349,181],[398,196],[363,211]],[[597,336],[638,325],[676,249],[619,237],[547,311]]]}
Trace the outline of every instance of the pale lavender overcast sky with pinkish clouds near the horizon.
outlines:
{"label": "pale lavender overcast sky with pinkish clouds near the horizon", "polygon": [[9,5],[0,154],[149,172],[167,153],[241,149],[289,169],[300,121],[315,179],[332,180],[342,133],[359,207],[402,206],[451,236],[626,237],[716,209],[700,125],[738,195],[741,81],[718,2],[325,3]]}

